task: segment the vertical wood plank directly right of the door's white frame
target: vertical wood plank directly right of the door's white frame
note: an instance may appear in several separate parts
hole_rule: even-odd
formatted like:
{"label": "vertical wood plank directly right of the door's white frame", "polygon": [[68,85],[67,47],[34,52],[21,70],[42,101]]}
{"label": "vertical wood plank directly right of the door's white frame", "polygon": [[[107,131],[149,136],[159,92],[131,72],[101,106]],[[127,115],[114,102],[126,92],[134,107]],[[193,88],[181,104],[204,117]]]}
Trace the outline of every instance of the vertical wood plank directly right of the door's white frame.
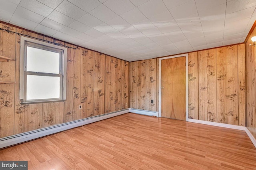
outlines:
{"label": "vertical wood plank directly right of the door's white frame", "polygon": [[188,53],[188,118],[198,119],[198,54]]}

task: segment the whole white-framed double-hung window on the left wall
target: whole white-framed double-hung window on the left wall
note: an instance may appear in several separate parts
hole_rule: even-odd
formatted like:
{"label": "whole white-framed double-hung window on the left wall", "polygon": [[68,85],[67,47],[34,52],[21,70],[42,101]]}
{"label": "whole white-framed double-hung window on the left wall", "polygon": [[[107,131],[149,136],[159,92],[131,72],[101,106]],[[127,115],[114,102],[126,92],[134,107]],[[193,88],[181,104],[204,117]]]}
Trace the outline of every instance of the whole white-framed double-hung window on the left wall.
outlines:
{"label": "whole white-framed double-hung window on the left wall", "polygon": [[66,99],[66,48],[20,37],[22,104]]}

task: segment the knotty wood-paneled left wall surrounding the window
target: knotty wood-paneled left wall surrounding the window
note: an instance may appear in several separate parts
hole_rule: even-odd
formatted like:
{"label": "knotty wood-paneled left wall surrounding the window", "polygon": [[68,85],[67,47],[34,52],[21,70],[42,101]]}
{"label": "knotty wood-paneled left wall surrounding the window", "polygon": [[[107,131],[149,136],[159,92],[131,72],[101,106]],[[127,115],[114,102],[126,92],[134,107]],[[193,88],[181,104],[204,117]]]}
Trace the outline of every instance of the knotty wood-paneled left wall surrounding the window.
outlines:
{"label": "knotty wood-paneled left wall surrounding the window", "polygon": [[[0,81],[15,82],[0,83],[0,138],[128,108],[126,61],[4,23],[0,23],[0,27],[56,45],[77,48],[67,49],[67,99],[23,105],[19,99],[20,35],[0,30],[0,55],[16,59],[0,61]],[[78,109],[79,104],[82,104],[82,110]]]}

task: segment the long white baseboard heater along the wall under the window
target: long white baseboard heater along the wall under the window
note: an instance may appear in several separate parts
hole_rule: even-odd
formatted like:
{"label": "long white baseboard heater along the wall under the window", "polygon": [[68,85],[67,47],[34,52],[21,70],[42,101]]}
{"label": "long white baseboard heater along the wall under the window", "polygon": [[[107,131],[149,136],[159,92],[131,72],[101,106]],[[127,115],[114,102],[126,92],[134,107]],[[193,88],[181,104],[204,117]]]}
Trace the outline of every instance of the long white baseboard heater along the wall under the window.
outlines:
{"label": "long white baseboard heater along the wall under the window", "polygon": [[20,133],[20,134],[17,134],[17,135],[3,137],[3,138],[0,138],[0,149],[5,148],[5,147],[10,147],[12,145],[17,145],[19,143],[23,143],[23,142],[26,142],[26,141],[31,141],[33,139],[37,139],[37,138],[44,137],[44,136],[47,136],[47,135],[51,135],[51,134],[54,134],[54,133],[58,133],[58,132],[61,132],[61,131],[66,131],[66,130],[72,129],[74,127],[79,127],[79,126],[86,125],[86,124],[89,124],[89,123],[94,123],[96,121],[101,121],[101,120],[104,120],[104,119],[108,119],[110,117],[115,117],[115,116],[118,116],[118,115],[129,113],[129,112],[130,112],[129,109],[123,109],[123,110],[120,110],[120,111],[114,111],[114,112],[111,112],[111,113],[106,113],[106,114],[102,114],[102,115],[88,117],[88,118],[85,118],[85,119],[80,119],[80,120],[76,120],[76,121],[70,121],[70,122],[67,122],[67,123],[62,123],[62,124],[59,124],[59,125],[45,127],[45,128],[37,129],[37,130],[34,130],[34,131]]}

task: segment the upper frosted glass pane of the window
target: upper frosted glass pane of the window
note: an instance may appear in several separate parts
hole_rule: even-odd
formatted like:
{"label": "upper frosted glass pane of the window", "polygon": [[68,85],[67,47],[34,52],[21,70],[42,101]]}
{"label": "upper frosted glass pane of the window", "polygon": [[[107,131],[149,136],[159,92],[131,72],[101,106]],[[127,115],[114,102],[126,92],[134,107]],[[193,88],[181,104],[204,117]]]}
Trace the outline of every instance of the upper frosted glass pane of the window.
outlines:
{"label": "upper frosted glass pane of the window", "polygon": [[60,53],[27,47],[27,71],[59,74]]}

